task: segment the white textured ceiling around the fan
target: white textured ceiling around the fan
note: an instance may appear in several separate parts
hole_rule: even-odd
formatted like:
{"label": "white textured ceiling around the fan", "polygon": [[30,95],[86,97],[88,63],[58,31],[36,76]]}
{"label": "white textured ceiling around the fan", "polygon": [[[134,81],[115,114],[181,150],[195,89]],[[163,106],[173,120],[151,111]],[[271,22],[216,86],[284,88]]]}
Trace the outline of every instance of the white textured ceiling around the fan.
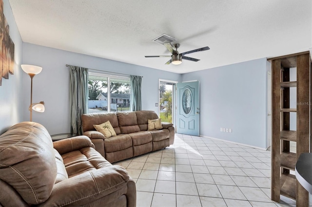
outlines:
{"label": "white textured ceiling around the fan", "polygon": [[[307,51],[311,0],[9,0],[24,42],[186,73]],[[152,40],[175,37],[198,62],[164,65]]]}

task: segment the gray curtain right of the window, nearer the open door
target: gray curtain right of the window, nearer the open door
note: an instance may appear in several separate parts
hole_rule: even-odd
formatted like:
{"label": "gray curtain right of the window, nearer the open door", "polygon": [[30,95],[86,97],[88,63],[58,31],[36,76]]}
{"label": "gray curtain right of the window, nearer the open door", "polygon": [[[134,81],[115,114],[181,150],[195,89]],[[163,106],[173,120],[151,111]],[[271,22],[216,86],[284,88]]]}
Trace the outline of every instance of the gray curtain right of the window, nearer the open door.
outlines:
{"label": "gray curtain right of the window, nearer the open door", "polygon": [[131,101],[130,110],[140,111],[141,110],[141,82],[142,77],[137,75],[130,75],[130,86],[131,86]]}

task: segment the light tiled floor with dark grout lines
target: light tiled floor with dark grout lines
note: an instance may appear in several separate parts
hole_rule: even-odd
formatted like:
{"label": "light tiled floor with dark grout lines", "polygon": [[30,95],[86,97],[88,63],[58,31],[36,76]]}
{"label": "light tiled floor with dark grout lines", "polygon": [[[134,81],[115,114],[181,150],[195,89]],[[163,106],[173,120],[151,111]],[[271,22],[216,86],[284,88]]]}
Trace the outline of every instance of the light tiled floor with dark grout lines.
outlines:
{"label": "light tiled floor with dark grout lines", "polygon": [[137,207],[295,206],[270,199],[270,151],[176,134],[170,147],[114,164],[136,181]]}

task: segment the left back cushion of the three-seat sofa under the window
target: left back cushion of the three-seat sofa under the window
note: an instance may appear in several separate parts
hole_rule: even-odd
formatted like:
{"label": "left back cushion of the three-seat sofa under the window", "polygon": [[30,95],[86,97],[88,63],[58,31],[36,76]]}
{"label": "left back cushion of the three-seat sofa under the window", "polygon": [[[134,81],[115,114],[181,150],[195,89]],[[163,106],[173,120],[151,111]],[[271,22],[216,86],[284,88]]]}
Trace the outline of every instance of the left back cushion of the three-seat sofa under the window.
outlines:
{"label": "left back cushion of the three-seat sofa under the window", "polygon": [[109,121],[116,134],[120,134],[118,118],[116,113],[94,113],[81,115],[81,125],[83,132],[95,130],[93,125],[98,125]]}

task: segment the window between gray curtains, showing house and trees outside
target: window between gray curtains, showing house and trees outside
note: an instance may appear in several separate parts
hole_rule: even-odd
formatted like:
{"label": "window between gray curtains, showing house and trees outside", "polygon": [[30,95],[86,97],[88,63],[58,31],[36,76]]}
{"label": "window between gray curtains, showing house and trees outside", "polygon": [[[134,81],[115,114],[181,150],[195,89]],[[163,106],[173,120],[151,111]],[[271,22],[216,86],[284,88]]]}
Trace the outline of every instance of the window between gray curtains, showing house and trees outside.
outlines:
{"label": "window between gray curtains, showing house and trees outside", "polygon": [[89,73],[88,113],[130,111],[130,77]]}

